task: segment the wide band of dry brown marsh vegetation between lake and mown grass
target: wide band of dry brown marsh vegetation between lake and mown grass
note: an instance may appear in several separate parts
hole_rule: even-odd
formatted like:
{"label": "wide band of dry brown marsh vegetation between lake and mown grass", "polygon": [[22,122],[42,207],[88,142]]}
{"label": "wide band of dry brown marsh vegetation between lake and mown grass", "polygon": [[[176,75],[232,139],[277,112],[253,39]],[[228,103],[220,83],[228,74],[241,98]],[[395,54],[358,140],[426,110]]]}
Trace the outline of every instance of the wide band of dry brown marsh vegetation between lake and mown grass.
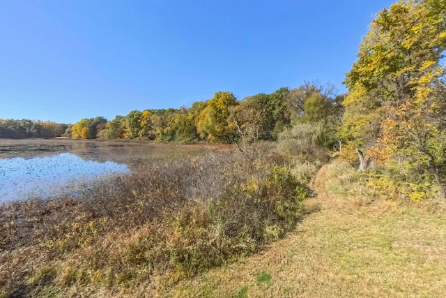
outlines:
{"label": "wide band of dry brown marsh vegetation between lake and mown grass", "polygon": [[208,151],[141,163],[80,198],[3,204],[0,293],[162,292],[282,239],[306,195],[280,158]]}

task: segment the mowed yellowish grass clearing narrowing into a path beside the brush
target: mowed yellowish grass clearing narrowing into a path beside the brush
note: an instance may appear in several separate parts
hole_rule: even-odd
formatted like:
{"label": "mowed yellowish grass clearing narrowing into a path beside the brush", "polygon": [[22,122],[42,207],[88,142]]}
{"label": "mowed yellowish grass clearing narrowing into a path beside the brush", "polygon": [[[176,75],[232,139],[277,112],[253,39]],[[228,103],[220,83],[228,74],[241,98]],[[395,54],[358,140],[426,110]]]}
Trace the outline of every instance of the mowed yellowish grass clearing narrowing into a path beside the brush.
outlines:
{"label": "mowed yellowish grass clearing narrowing into a path beside the brush", "polygon": [[[157,292],[162,297],[446,297],[446,207],[334,195],[323,167],[288,237]],[[144,295],[143,292],[139,293]]]}

